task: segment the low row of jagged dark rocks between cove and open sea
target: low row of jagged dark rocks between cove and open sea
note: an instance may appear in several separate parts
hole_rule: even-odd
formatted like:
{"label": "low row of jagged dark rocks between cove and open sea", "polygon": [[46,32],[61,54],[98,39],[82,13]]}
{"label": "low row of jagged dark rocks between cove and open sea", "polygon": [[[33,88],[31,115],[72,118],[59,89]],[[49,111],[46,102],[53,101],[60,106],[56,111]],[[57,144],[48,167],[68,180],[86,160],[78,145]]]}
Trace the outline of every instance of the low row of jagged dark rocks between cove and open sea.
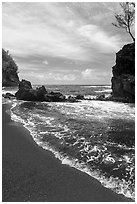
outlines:
{"label": "low row of jagged dark rocks between cove and open sea", "polygon": [[17,99],[24,101],[40,101],[40,102],[79,102],[81,100],[96,100],[96,101],[115,101],[115,102],[124,102],[129,103],[128,98],[115,97],[112,93],[110,94],[101,94],[93,98],[86,98],[84,95],[76,96],[65,96],[61,92],[48,92],[45,86],[37,87],[36,89],[32,88],[31,82],[27,80],[22,80],[19,82],[18,91],[15,94],[7,92],[2,95],[4,98],[8,99]]}

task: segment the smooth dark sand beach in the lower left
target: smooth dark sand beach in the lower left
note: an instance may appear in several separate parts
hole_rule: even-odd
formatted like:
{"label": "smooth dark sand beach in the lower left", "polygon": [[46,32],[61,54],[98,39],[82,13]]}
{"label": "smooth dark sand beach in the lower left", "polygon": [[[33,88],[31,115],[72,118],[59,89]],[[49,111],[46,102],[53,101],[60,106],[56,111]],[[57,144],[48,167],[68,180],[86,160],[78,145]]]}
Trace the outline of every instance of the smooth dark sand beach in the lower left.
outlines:
{"label": "smooth dark sand beach in the lower left", "polygon": [[10,119],[3,105],[3,201],[129,202],[87,174],[62,165]]}

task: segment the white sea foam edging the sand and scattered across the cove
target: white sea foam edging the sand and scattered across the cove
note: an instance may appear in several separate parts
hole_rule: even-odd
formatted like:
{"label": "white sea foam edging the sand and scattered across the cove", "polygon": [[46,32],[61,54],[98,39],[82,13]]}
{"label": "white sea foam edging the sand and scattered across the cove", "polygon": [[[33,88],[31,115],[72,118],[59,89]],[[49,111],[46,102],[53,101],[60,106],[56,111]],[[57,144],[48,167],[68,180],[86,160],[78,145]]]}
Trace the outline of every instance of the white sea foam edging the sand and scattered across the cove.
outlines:
{"label": "white sea foam edging the sand and scattered across the cove", "polygon": [[[135,199],[135,194],[134,192],[131,192],[131,190],[129,189],[129,184],[125,181],[125,180],[119,180],[118,178],[113,178],[113,177],[110,177],[110,178],[106,178],[105,176],[103,176],[101,174],[101,172],[99,170],[94,170],[92,169],[90,166],[88,166],[88,162],[92,161],[92,157],[87,160],[87,164],[85,164],[84,162],[81,162],[79,161],[78,159],[76,158],[73,158],[73,157],[70,157],[68,155],[65,155],[63,152],[59,152],[56,147],[53,147],[51,146],[48,142],[43,142],[40,138],[40,135],[44,135],[46,132],[45,131],[40,131],[40,135],[38,135],[38,133],[35,131],[34,129],[34,126],[35,124],[30,120],[30,119],[22,119],[20,115],[16,115],[14,114],[14,112],[12,111],[17,105],[19,105],[19,103],[21,104],[21,102],[15,102],[13,105],[12,105],[12,108],[11,108],[11,119],[16,121],[16,122],[21,122],[23,124],[23,126],[25,128],[27,128],[29,131],[30,131],[30,134],[32,135],[32,138],[34,139],[34,141],[39,145],[41,146],[43,149],[45,150],[48,150],[48,151],[51,151],[56,158],[58,158],[62,164],[64,165],[69,165],[70,167],[74,167],[82,172],[85,172],[87,173],[88,175],[94,177],[95,179],[97,179],[98,181],[101,182],[101,184],[106,187],[106,188],[110,188],[112,189],[114,192],[118,193],[118,194],[123,194],[125,195],[126,197],[129,197],[129,198],[132,198],[133,200]],[[101,102],[102,103],[102,102]],[[100,103],[100,105],[101,105]],[[115,110],[117,109],[117,105],[115,104],[115,107],[113,107],[113,102],[112,103],[108,103],[109,106],[110,106],[110,112],[112,111],[113,114],[115,112]],[[83,107],[84,105],[84,107]],[[72,112],[73,112],[73,107],[75,107],[75,111],[74,111],[74,115],[75,113],[81,113],[82,114],[82,111],[85,111],[85,105],[87,105],[87,102],[83,102],[81,104],[71,104],[71,103],[67,103],[65,104],[65,107],[67,107],[67,110],[68,108],[71,109],[72,108]],[[98,103],[88,103],[88,105],[91,107],[94,105],[94,108],[97,108],[98,107]],[[67,114],[67,110],[64,110],[64,108],[60,108],[61,107],[61,104],[56,104],[56,106],[59,108],[60,111],[62,111],[63,113]],[[126,111],[131,111],[131,110],[128,110],[128,108],[125,107],[125,105],[122,105],[120,104],[121,106],[121,110],[125,113],[125,110]],[[90,108],[88,107],[88,108]],[[89,112],[87,108],[87,111]],[[106,107],[104,106],[104,103],[102,103],[102,109],[104,111],[106,111]],[[72,113],[71,113],[72,114]],[[109,117],[111,117],[111,114],[108,112],[107,114],[109,114]],[[39,117],[39,115],[37,115]],[[123,117],[123,116],[122,116]],[[126,114],[124,115],[124,117],[126,117]],[[132,117],[132,116],[131,116]],[[42,119],[42,117],[40,117]],[[51,125],[51,122],[54,120],[52,117],[49,118],[48,120],[48,117],[47,118],[47,121],[46,123],[48,125]],[[32,119],[32,118],[31,118]],[[44,117],[42,119],[44,121]],[[56,126],[56,124],[55,124]],[[60,126],[61,127],[61,126]],[[62,127],[61,127],[62,128]],[[68,131],[69,128],[68,126],[66,125],[65,126],[65,131]],[[47,132],[48,133],[48,132]],[[60,135],[58,134],[55,134],[56,137],[60,137]],[[83,141],[84,141],[84,137],[83,137]],[[81,138],[81,141],[82,141],[82,138]],[[74,145],[74,144],[73,144]],[[87,144],[88,145],[88,144]],[[88,146],[86,147],[87,149],[84,149],[84,151],[88,151]],[[98,149],[98,146],[94,146],[94,148],[91,150],[91,151],[100,151],[100,149]],[[127,161],[129,161],[129,158],[128,157],[125,157],[125,159]],[[106,162],[114,162],[114,159],[108,155],[106,158],[105,158]]]}

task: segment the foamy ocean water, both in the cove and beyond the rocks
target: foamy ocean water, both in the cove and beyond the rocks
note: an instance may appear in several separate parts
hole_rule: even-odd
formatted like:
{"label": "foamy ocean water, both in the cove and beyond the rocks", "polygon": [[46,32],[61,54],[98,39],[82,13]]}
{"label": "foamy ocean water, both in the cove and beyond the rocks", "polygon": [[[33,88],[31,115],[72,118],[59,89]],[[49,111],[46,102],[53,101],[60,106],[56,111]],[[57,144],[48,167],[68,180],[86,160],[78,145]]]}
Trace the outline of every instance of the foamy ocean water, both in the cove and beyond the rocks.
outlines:
{"label": "foamy ocean water, both in the cove and beyond the rocks", "polygon": [[[66,96],[83,94],[86,98],[111,92],[110,86],[46,87]],[[16,89],[11,91],[14,93]],[[4,103],[9,102],[6,100]],[[21,122],[34,141],[53,152],[62,164],[75,167],[116,193],[135,199],[134,104],[95,100],[78,103],[13,100],[11,103],[12,120]]]}

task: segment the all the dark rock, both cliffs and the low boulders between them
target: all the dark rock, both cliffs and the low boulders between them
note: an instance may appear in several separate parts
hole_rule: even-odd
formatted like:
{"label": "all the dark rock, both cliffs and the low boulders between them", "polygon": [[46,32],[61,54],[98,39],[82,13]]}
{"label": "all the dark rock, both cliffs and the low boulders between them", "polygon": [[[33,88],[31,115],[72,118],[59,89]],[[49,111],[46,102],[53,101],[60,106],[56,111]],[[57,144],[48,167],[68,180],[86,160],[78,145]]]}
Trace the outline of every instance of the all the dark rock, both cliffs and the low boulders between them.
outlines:
{"label": "all the dark rock, both cliffs and the low boulders between them", "polygon": [[[69,96],[66,98],[66,96],[60,92],[48,92],[45,86],[33,89],[31,82],[24,79],[19,81],[17,65],[6,51],[2,51],[2,85],[16,85],[19,87],[15,95],[6,93],[3,94],[3,97],[25,101],[46,102],[78,102],[79,100],[85,100],[83,95]],[[101,94],[93,99],[86,100],[135,103],[135,43],[124,45],[123,48],[116,53],[116,64],[112,67],[112,72],[112,93],[107,96]]]}

